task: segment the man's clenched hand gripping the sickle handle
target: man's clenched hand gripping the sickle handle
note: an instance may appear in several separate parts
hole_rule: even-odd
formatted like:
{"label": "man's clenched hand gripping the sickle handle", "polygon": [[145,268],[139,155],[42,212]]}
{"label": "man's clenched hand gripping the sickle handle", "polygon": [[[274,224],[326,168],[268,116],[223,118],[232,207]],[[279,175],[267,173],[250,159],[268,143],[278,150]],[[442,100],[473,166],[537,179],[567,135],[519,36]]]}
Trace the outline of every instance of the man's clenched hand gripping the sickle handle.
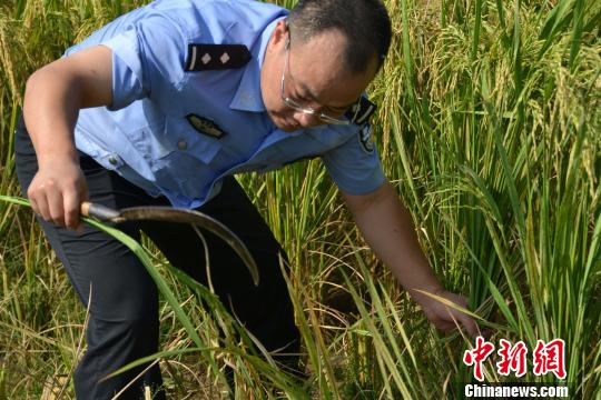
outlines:
{"label": "man's clenched hand gripping the sickle handle", "polygon": [[77,161],[40,164],[27,196],[33,211],[46,221],[76,230],[82,228],[79,207],[88,200],[88,184]]}

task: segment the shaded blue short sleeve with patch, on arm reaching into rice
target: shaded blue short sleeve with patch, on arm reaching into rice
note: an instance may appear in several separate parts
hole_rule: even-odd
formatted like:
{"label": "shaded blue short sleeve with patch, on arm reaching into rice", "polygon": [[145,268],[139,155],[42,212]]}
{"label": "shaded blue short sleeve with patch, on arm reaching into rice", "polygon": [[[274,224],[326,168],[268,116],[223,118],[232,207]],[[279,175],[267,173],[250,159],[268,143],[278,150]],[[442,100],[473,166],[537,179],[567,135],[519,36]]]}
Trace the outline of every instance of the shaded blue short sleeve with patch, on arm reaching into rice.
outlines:
{"label": "shaded blue short sleeve with patch, on arm reaching into rice", "polygon": [[372,127],[365,124],[342,146],[322,156],[327,172],[345,193],[368,194],[386,181],[371,136]]}

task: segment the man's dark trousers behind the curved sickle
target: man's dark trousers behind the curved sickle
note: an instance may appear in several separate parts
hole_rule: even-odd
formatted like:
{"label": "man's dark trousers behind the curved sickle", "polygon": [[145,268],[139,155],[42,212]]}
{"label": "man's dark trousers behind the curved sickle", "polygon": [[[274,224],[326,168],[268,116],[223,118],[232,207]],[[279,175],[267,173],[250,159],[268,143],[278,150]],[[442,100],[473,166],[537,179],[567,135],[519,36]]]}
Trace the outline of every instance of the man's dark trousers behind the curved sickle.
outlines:
{"label": "man's dark trousers behind the curved sickle", "polygon": [[[21,189],[27,193],[38,162],[22,119],[16,134],[17,173]],[[80,166],[90,201],[117,209],[168,206],[167,199],[148,196],[83,153],[80,153]],[[218,238],[206,234],[210,278],[221,302],[267,350],[285,348],[286,353],[297,353],[299,333],[279,267],[279,254],[285,254],[244,190],[234,178],[227,178],[221,192],[198,210],[231,229],[246,243],[259,266],[260,284],[255,287],[248,270],[233,250]],[[86,337],[88,349],[75,372],[77,398],[109,399],[148,366],[102,382],[99,380],[158,350],[157,288],[138,258],[108,234],[91,227],[78,233],[38,220],[65,264],[79,299],[90,310]],[[117,227],[138,240],[140,230],[144,231],[174,267],[201,283],[207,282],[204,246],[191,227],[167,222],[127,222]],[[283,360],[294,364],[298,358],[286,357]],[[120,398],[140,398],[145,384],[161,384],[158,364]]]}

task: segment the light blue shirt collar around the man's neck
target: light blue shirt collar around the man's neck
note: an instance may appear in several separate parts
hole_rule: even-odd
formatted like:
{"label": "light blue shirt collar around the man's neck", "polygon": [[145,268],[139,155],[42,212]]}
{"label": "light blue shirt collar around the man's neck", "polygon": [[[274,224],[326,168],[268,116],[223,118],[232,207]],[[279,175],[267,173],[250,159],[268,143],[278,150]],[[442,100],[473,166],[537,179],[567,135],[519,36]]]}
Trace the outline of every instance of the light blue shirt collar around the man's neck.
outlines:
{"label": "light blue shirt collar around the man's neck", "polygon": [[263,103],[263,96],[260,94],[260,69],[272,33],[274,32],[277,22],[283,18],[285,17],[273,20],[263,30],[263,33],[253,46],[253,50],[250,51],[253,59],[246,66],[238,90],[229,103],[230,109],[265,112],[266,109]]}

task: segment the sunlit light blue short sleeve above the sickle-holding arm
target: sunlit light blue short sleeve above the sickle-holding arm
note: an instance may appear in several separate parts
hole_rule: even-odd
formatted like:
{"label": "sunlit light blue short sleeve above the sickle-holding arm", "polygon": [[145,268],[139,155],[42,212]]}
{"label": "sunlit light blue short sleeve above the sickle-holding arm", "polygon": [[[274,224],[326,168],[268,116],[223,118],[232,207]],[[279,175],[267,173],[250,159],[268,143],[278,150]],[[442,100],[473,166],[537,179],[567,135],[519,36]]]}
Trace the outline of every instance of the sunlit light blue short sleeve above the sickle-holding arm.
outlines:
{"label": "sunlit light blue short sleeve above the sickle-holding arm", "polygon": [[186,39],[159,13],[135,21],[100,44],[112,51],[112,104],[118,110],[145,97],[175,90],[184,78]]}

